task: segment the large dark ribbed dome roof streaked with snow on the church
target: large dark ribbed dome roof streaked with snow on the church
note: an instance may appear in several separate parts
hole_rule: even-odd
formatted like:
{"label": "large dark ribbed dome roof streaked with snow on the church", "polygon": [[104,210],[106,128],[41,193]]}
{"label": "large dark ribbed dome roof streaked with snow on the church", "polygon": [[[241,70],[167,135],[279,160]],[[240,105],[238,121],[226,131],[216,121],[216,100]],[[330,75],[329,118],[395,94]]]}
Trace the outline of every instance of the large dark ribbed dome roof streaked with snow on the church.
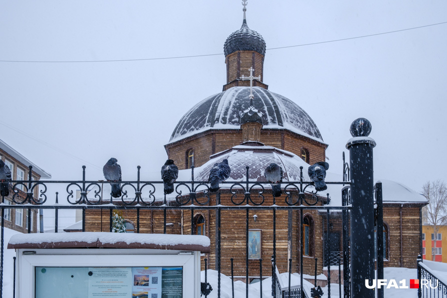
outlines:
{"label": "large dark ribbed dome roof streaked with snow on the church", "polygon": [[[250,106],[249,94],[250,87],[231,87],[195,104],[178,121],[169,143],[208,129],[239,129],[240,115]],[[262,112],[264,129],[288,129],[323,141],[310,116],[290,99],[262,87],[253,87],[253,95],[253,106]]]}

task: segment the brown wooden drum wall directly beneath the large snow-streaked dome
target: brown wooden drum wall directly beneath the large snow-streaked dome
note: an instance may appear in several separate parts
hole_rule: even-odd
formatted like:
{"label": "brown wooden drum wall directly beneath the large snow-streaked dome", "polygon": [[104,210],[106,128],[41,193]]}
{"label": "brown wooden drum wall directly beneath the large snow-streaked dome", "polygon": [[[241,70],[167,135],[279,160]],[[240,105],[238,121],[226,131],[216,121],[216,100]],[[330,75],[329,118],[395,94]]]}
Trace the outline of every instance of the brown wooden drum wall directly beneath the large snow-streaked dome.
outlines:
{"label": "brown wooden drum wall directly beneath the large snow-streaked dome", "polygon": [[[165,145],[167,155],[173,159],[179,169],[186,166],[186,151],[193,148],[195,166],[209,160],[211,154],[229,149],[242,141],[241,129],[208,130]],[[261,129],[260,141],[266,145],[290,151],[298,156],[301,148],[309,151],[310,164],[325,160],[326,144],[286,129]]]}

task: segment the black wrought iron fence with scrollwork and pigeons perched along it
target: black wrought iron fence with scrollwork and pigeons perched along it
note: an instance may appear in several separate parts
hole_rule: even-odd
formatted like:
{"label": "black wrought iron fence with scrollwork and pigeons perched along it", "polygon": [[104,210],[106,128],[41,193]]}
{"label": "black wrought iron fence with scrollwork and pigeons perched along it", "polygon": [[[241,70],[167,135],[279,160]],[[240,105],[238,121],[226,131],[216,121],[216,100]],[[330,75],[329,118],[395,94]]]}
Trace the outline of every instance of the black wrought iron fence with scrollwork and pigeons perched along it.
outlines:
{"label": "black wrought iron fence with scrollwork and pigeons perched along it", "polygon": [[[221,192],[215,194],[215,198],[211,198],[211,193],[205,181],[194,181],[194,169],[191,169],[191,180],[189,181],[177,181],[175,185],[176,197],[169,203],[166,199],[166,195],[160,195],[162,193],[163,185],[162,181],[144,181],[140,179],[140,167],[137,167],[136,180],[133,181],[121,181],[122,195],[119,199],[113,199],[108,194],[103,192],[103,184],[109,183],[101,180],[86,180],[85,171],[86,167],[82,166],[82,179],[81,180],[49,180],[49,181],[35,181],[31,179],[31,166],[29,167],[28,180],[14,180],[11,184],[12,202],[14,205],[1,204],[1,245],[0,245],[0,283],[3,281],[3,231],[4,231],[4,211],[6,209],[24,209],[28,214],[28,233],[31,232],[31,209],[52,209],[55,211],[54,217],[54,231],[59,231],[58,223],[58,211],[62,209],[80,209],[82,212],[82,231],[85,231],[85,216],[89,210],[102,210],[109,213],[109,230],[112,230],[112,212],[113,210],[135,210],[136,211],[136,226],[135,231],[140,232],[140,211],[142,210],[161,210],[163,211],[163,233],[166,233],[166,218],[167,212],[172,210],[182,210],[191,212],[191,229],[194,211],[208,210],[215,211],[215,226],[216,226],[216,242],[215,242],[215,268],[218,271],[218,276],[221,272],[221,227],[226,223],[221,222],[221,211],[227,210],[243,210],[245,211],[245,246],[246,246],[246,262],[245,262],[245,280],[249,280],[249,264],[248,264],[248,229],[249,229],[249,212],[269,210],[272,212],[272,230],[273,230],[273,243],[272,243],[272,262],[276,265],[276,229],[277,229],[277,210],[294,210],[299,213],[299,222],[303,223],[303,211],[306,210],[319,210],[325,212],[326,227],[328,227],[330,221],[330,210],[343,210],[348,211],[350,206],[328,206],[326,202],[329,199],[329,194],[323,194],[322,196],[311,190],[313,182],[304,181],[302,178],[302,167],[299,181],[289,181],[283,183],[284,193],[282,197],[274,197],[271,192],[266,191],[266,187],[269,187],[268,182],[250,181],[248,179],[249,168],[246,168],[245,181],[239,182],[223,182],[223,192],[226,191],[228,195],[231,195],[230,200],[226,200],[225,204],[220,201]],[[50,194],[47,192],[47,185],[49,184],[63,185],[65,188],[65,194],[55,193],[55,203],[50,203],[48,197]],[[349,184],[348,181],[340,182],[326,182],[327,184]],[[23,190],[18,188],[23,188]],[[267,186],[268,185],[268,186]],[[34,191],[38,189],[37,197],[34,196]],[[74,190],[79,190],[79,198],[75,198]],[[142,195],[142,191],[148,189],[146,197]],[[186,191],[185,191],[186,190]],[[158,192],[157,192],[158,191]],[[64,202],[61,203],[59,197],[65,197]],[[239,198],[240,197],[240,198]],[[1,197],[4,202],[4,197]],[[189,224],[189,223],[188,223]],[[283,228],[283,227],[282,227]],[[326,235],[328,237],[328,228],[325,228]],[[303,249],[302,241],[297,244],[297,255],[299,258],[299,269],[293,267],[293,271],[303,272],[303,253],[300,253]],[[345,246],[343,250],[348,251],[348,247]],[[11,262],[12,260],[7,260]],[[289,266],[291,269],[291,266]],[[297,269],[297,270],[296,270]],[[330,267],[329,274],[330,274]],[[330,276],[330,275],[329,275]],[[329,277],[330,278],[330,277]],[[274,280],[274,278],[273,278]],[[246,283],[246,292],[248,294],[248,282]],[[301,275],[302,284],[302,275]],[[330,287],[330,285],[329,285]],[[272,284],[272,289],[275,291],[276,286]],[[2,287],[0,287],[0,297],[2,296]],[[217,293],[220,296],[220,279],[218,279]],[[300,290],[296,290],[299,292]],[[330,294],[330,290],[329,290]]]}

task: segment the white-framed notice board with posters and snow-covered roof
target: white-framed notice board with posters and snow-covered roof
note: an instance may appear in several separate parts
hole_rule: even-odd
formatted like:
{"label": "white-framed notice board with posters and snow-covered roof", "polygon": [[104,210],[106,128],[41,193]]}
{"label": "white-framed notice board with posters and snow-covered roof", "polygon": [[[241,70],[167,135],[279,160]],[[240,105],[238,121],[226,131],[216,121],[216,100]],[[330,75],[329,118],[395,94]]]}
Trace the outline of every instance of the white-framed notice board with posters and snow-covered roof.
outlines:
{"label": "white-framed notice board with posters and snow-covered roof", "polygon": [[200,296],[201,235],[108,232],[17,234],[18,297]]}

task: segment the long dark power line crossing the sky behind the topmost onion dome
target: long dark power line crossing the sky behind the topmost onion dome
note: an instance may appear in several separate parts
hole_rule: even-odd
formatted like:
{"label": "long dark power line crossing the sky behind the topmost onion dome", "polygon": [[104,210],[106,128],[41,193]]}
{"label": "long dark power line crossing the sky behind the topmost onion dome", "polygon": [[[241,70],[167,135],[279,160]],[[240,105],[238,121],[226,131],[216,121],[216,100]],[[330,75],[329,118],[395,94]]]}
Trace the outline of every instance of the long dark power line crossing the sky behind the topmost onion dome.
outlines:
{"label": "long dark power line crossing the sky behind the topmost onion dome", "polygon": [[[311,43],[302,43],[302,44],[296,44],[296,45],[287,45],[287,46],[279,46],[279,47],[270,47],[270,48],[267,48],[267,50],[280,49],[280,48],[287,48],[287,47],[306,46],[306,45],[314,45],[314,44],[321,44],[321,43],[329,43],[329,42],[344,41],[344,40],[356,39],[356,38],[371,37],[371,36],[377,36],[377,35],[383,35],[383,34],[396,33],[396,32],[402,32],[402,31],[413,30],[413,29],[419,29],[419,28],[424,28],[424,27],[429,27],[429,26],[435,26],[435,25],[440,25],[440,24],[445,24],[445,23],[447,23],[447,21],[443,21],[443,22],[439,22],[439,23],[434,23],[434,24],[429,24],[429,25],[423,25],[423,26],[411,27],[411,28],[406,28],[406,29],[394,30],[394,31],[387,31],[387,32],[380,32],[380,33],[374,33],[374,34],[368,34],[368,35],[355,36],[355,37],[347,37],[347,38],[340,38],[340,39],[332,39],[332,40],[318,41],[318,42],[311,42]],[[206,56],[216,56],[216,55],[223,55],[223,53],[203,54],[203,55],[189,55],[189,56],[174,56],[174,57],[158,57],[158,58],[141,58],[141,59],[118,59],[118,60],[74,60],[74,61],[0,60],[0,62],[23,62],[23,63],[124,62],[124,61],[146,61],[146,60],[181,59],[181,58],[206,57]]]}

